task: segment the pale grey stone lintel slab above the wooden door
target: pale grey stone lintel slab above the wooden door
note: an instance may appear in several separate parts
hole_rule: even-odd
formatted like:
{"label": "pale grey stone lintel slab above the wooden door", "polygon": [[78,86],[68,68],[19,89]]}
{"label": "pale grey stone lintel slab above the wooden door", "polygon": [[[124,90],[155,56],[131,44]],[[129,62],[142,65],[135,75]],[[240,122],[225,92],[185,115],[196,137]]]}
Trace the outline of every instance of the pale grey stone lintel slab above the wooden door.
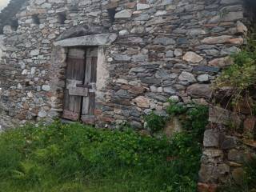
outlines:
{"label": "pale grey stone lintel slab above the wooden door", "polygon": [[54,46],[109,46],[117,38],[117,34],[90,34],[54,42]]}

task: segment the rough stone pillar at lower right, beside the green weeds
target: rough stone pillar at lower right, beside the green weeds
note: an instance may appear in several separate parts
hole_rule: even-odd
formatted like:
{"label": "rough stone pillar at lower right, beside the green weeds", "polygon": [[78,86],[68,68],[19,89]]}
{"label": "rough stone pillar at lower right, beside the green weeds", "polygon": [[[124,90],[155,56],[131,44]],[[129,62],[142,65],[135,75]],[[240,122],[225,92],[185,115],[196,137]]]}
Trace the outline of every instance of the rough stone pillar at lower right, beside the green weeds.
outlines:
{"label": "rough stone pillar at lower right, beside the green weeds", "polygon": [[218,186],[228,184],[242,185],[243,165],[256,158],[256,117],[246,102],[242,104],[240,113],[226,110],[224,106],[210,107],[210,124],[203,141],[199,191],[216,191]]}

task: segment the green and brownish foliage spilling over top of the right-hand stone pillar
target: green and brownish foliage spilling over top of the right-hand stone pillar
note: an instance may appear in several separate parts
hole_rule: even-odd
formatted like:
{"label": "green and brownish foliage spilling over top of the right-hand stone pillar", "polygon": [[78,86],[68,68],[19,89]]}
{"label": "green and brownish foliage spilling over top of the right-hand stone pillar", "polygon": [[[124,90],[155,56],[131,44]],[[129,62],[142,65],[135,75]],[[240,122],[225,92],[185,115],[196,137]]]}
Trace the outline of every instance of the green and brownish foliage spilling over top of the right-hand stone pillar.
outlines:
{"label": "green and brownish foliage spilling over top of the right-hand stone pillar", "polygon": [[237,54],[231,55],[234,64],[222,70],[216,79],[215,89],[231,87],[231,101],[234,109],[243,98],[250,100],[250,89],[256,85],[256,45],[250,40],[248,46]]}

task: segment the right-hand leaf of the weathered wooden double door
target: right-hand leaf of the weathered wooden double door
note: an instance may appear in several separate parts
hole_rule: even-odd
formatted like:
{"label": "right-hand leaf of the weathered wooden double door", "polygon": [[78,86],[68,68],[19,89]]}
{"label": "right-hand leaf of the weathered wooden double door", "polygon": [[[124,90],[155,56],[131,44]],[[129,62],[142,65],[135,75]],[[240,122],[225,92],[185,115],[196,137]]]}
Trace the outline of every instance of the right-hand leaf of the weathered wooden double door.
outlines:
{"label": "right-hand leaf of the weathered wooden double door", "polygon": [[97,79],[98,49],[89,48],[86,50],[86,73],[84,86],[88,87],[88,97],[82,101],[82,122],[94,124],[95,91]]}

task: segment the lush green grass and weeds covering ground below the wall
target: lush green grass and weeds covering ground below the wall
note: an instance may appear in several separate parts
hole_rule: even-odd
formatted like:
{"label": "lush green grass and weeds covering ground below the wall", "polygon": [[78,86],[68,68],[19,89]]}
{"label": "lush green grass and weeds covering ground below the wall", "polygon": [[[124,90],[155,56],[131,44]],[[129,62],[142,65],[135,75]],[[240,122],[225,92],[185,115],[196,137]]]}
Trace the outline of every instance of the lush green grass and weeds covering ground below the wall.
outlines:
{"label": "lush green grass and weeds covering ground below the wall", "polygon": [[0,135],[0,191],[194,192],[201,158],[194,137],[206,123],[192,120],[207,113],[184,113],[188,131],[173,138],[61,122],[8,130]]}

